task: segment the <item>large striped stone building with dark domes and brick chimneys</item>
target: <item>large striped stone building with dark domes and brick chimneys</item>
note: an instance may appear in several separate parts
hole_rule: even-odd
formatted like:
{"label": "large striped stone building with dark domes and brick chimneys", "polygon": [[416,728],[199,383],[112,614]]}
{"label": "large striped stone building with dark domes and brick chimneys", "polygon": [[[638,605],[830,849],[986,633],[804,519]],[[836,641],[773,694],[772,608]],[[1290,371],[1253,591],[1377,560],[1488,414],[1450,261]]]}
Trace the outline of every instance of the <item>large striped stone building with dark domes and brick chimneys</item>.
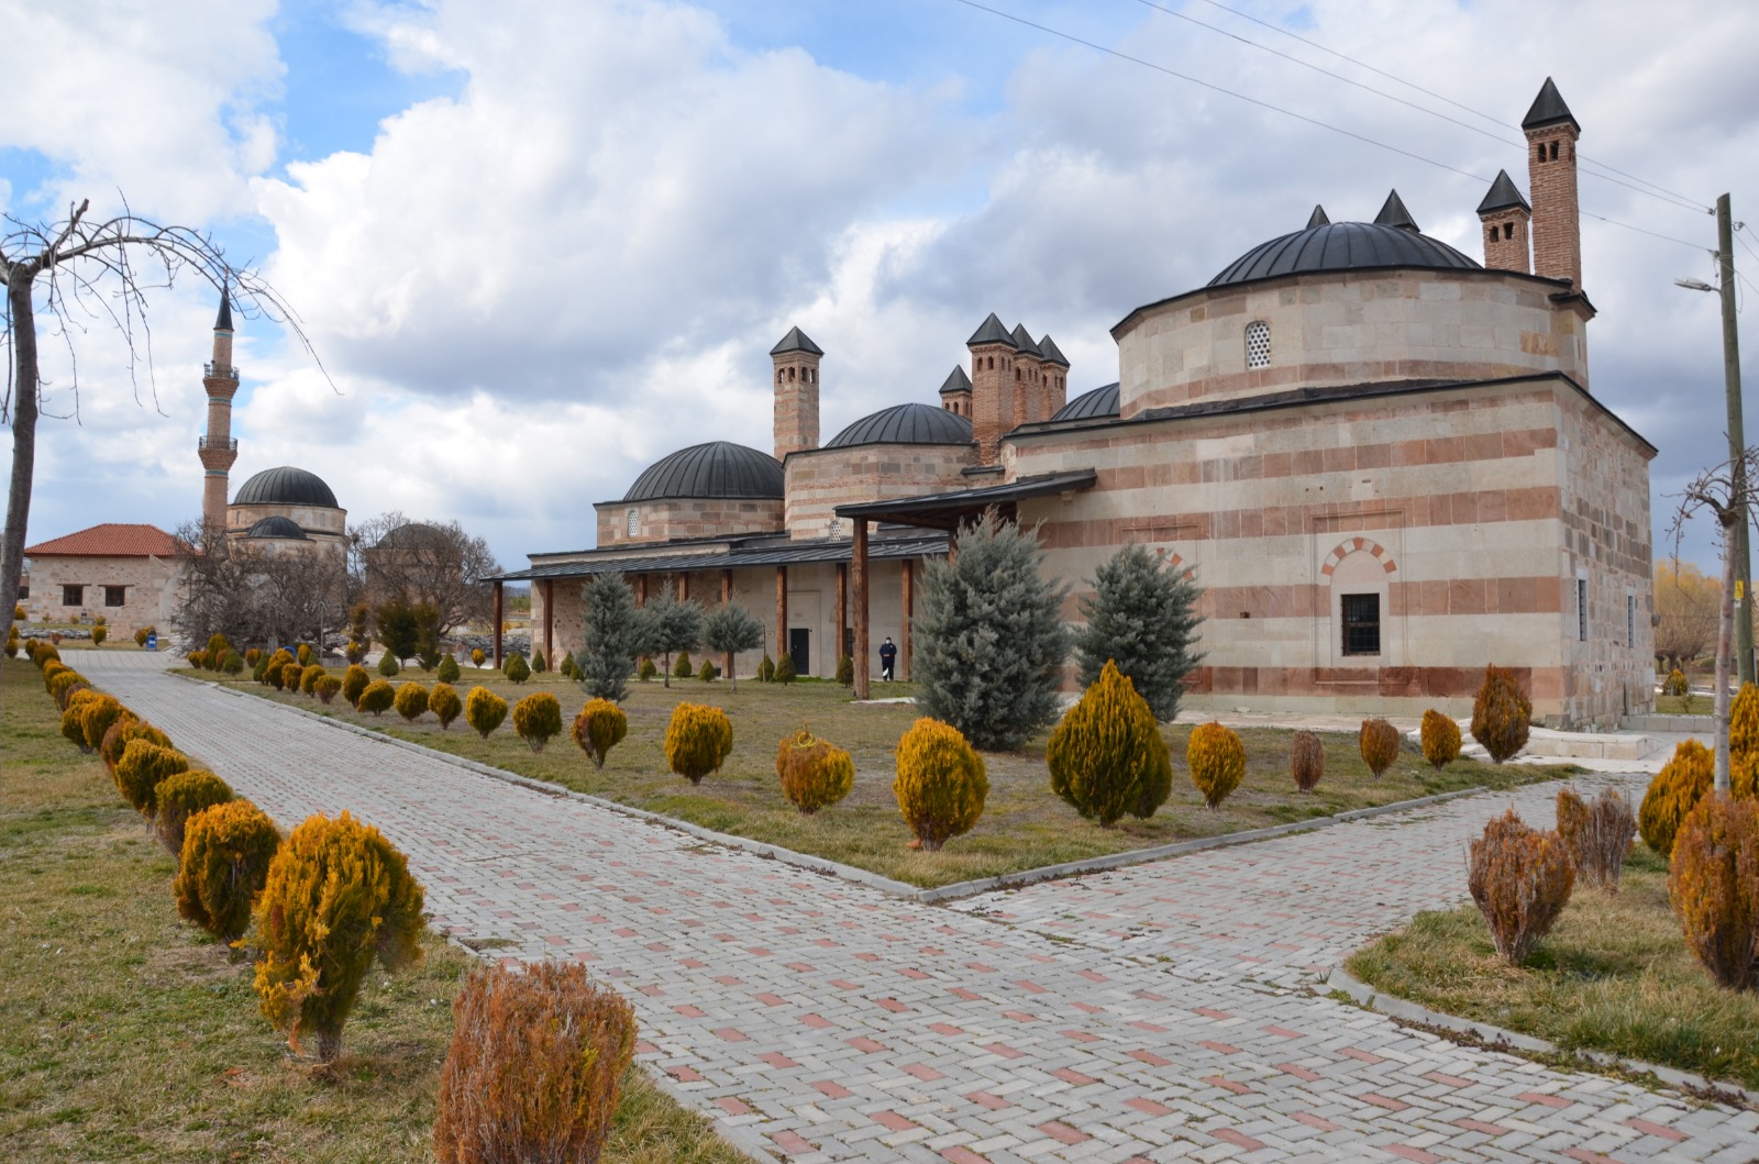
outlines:
{"label": "large striped stone building with dark domes and brick chimneys", "polygon": [[547,654],[582,640],[582,582],[619,571],[748,607],[804,673],[853,654],[865,695],[885,637],[908,677],[923,563],[994,506],[1038,526],[1069,621],[1126,543],[1194,570],[1200,709],[1463,714],[1486,663],[1553,724],[1648,709],[1655,448],[1590,390],[1580,125],[1550,79],[1523,130],[1529,195],[1497,176],[1481,264],[1397,192],[1374,222],[1314,209],[1124,315],[1115,382],[1075,399],[1057,345],[990,315],[938,404],[820,441],[825,352],[793,329],[772,452],[674,452],[595,506],[595,549],[500,582],[533,584]]}

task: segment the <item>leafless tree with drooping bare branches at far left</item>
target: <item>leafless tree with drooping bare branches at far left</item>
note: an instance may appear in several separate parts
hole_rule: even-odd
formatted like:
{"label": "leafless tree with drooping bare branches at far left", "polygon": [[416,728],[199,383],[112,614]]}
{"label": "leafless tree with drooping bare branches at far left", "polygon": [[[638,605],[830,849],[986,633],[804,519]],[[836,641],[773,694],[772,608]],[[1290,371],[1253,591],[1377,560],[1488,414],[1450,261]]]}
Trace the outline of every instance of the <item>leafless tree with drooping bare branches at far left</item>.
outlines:
{"label": "leafless tree with drooping bare branches at far left", "polygon": [[[90,200],[70,207],[67,218],[32,223],[0,216],[0,280],[5,280],[5,318],[0,343],[11,346],[0,420],[12,426],[12,478],[7,492],[5,535],[0,540],[0,607],[7,626],[18,603],[19,570],[25,564],[25,531],[30,522],[30,491],[37,464],[37,418],[42,415],[42,373],[37,360],[37,316],[53,320],[69,353],[86,320],[116,327],[128,348],[128,373],[144,364],[151,390],[153,353],[148,325],[148,292],[167,290],[179,274],[193,273],[216,290],[225,290],[246,315],[264,315],[285,324],[311,352],[304,331],[276,292],[250,267],[234,267],[222,248],[190,227],[165,227],[123,213],[93,222]],[[322,366],[320,366],[322,367]],[[74,378],[77,408],[77,373]]]}

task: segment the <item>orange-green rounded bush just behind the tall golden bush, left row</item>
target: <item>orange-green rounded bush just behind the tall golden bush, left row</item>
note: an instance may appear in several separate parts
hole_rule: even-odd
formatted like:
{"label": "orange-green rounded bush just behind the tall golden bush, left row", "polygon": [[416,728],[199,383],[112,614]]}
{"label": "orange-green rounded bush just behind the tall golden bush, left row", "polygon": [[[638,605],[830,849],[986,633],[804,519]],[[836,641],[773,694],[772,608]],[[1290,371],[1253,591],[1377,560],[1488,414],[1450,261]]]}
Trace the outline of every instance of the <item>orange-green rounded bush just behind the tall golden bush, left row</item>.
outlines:
{"label": "orange-green rounded bush just behind the tall golden bush, left row", "polygon": [[262,809],[248,800],[227,800],[183,823],[183,851],[172,893],[178,913],[222,942],[250,927],[250,911],[269,877],[269,862],[281,846]]}

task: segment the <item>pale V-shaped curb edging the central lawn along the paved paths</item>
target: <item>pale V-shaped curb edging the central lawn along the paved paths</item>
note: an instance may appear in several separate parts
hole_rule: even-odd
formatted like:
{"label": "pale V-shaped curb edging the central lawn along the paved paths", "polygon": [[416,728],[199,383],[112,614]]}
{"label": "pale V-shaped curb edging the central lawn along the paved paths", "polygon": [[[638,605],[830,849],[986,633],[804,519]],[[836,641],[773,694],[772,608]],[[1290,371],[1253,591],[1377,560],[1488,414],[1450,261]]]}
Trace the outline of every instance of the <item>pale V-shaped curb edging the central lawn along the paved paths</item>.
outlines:
{"label": "pale V-shaped curb edging the central lawn along the paved paths", "polygon": [[[183,679],[179,675],[179,679]],[[239,700],[255,700],[259,696],[248,691],[239,691],[236,687],[227,687],[223,684],[213,682],[209,679],[186,679],[186,682],[201,682],[223,691]],[[355,735],[378,740],[380,744],[389,744],[392,747],[401,747],[405,751],[420,753],[424,756],[433,756],[443,760],[450,765],[464,768],[468,772],[477,772],[478,775],[487,775],[496,781],[505,781],[508,784],[519,784],[521,788],[529,788],[535,793],[545,797],[568,797],[570,800],[580,800],[610,812],[621,812],[623,816],[631,816],[639,821],[647,821],[651,825],[660,825],[663,828],[672,828],[686,835],[697,837],[698,840],[707,840],[711,844],[726,846],[730,849],[739,849],[742,853],[751,853],[765,860],[783,862],[785,865],[793,865],[807,872],[816,872],[827,877],[837,877],[841,881],[853,881],[857,884],[865,884],[871,890],[880,890],[890,897],[897,897],[908,902],[916,902],[923,906],[932,906],[938,902],[957,900],[962,897],[974,897],[978,893],[990,893],[996,890],[1015,890],[1027,884],[1036,884],[1040,881],[1054,881],[1057,877],[1075,877],[1092,872],[1108,872],[1113,869],[1124,869],[1129,865],[1143,865],[1149,862],[1161,862],[1173,856],[1186,856],[1187,853],[1201,853],[1205,849],[1231,848],[1237,844],[1254,844],[1258,840],[1272,840],[1275,837],[1288,837],[1291,833],[1314,832],[1319,828],[1330,828],[1333,825],[1347,825],[1351,821],[1363,821],[1376,816],[1386,816],[1391,812],[1405,812],[1411,809],[1423,809],[1434,804],[1442,804],[1448,800],[1458,800],[1462,797],[1478,797],[1490,791],[1488,788],[1460,788],[1451,793],[1435,793],[1432,797],[1418,797],[1414,800],[1397,800],[1393,804],[1383,804],[1370,809],[1349,809],[1347,812],[1337,812],[1333,816],[1316,816],[1307,821],[1291,821],[1288,825],[1272,825],[1266,828],[1247,828],[1235,833],[1221,833],[1217,837],[1196,837],[1193,840],[1175,840],[1171,844],[1154,846],[1150,849],[1129,849],[1126,853],[1106,853],[1105,856],[1084,858],[1078,862],[1062,862],[1061,865],[1040,865],[1038,869],[1022,869],[1017,872],[997,874],[994,877],[980,877],[976,881],[955,881],[952,884],[941,884],[934,888],[920,888],[906,881],[895,881],[892,877],[881,877],[876,872],[865,869],[857,869],[855,865],[844,865],[841,862],[832,862],[823,856],[813,856],[809,853],[795,853],[793,849],[785,849],[777,844],[769,844],[765,840],[751,840],[749,837],[735,837],[732,833],[714,832],[712,828],[704,828],[700,825],[691,825],[690,821],[681,821],[677,818],[661,816],[658,812],[649,812],[647,809],[637,809],[626,804],[617,804],[616,800],[605,800],[603,797],[595,797],[591,793],[573,791],[572,788],[563,788],[559,784],[551,784],[547,781],[538,781],[529,775],[519,775],[517,772],[508,772],[507,768],[496,768],[493,765],[478,763],[475,760],[466,760],[463,756],[454,756],[452,753],[443,753],[436,747],[427,747],[424,744],[415,744],[412,740],[399,740],[394,735],[385,735],[383,731],[373,731],[371,728],[362,728],[361,724],[348,723],[347,719],[338,719],[334,716],[322,716],[304,707],[294,707],[290,703],[278,703],[269,700],[276,707],[288,710],[296,716],[306,716],[318,723],[339,728],[343,731],[352,731]]]}

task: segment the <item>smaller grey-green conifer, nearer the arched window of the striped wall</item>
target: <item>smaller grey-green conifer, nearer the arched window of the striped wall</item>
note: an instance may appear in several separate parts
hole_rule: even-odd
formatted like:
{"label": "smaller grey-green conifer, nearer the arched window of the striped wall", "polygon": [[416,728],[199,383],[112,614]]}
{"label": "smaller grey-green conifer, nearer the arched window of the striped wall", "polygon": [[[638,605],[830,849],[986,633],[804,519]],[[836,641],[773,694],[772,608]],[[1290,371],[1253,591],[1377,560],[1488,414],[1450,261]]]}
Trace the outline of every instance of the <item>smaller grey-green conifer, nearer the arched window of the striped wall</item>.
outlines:
{"label": "smaller grey-green conifer, nearer the arched window of the striped wall", "polygon": [[1131,543],[1094,570],[1094,594],[1082,600],[1087,626],[1075,633],[1082,687],[1098,682],[1106,661],[1131,680],[1154,717],[1179,714],[1184,680],[1203,654],[1198,640],[1198,594],[1182,571],[1166,570],[1149,550]]}

